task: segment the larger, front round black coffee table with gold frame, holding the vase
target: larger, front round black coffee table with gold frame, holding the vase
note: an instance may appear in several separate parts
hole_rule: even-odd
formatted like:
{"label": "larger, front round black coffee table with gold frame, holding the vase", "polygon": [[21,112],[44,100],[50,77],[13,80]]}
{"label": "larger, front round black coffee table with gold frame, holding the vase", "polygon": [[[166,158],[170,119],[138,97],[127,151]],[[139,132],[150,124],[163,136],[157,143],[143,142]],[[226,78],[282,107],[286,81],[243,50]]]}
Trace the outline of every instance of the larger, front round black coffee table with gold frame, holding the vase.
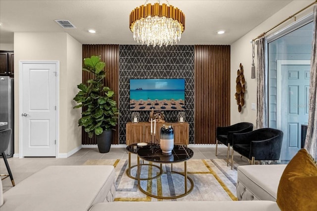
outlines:
{"label": "larger, front round black coffee table with gold frame, holding the vase", "polygon": [[[184,176],[184,193],[175,195],[175,196],[158,196],[158,195],[153,195],[152,193],[147,192],[144,190],[141,185],[140,185],[140,176],[138,176],[138,187],[143,192],[144,194],[157,198],[157,199],[177,199],[183,196],[186,196],[189,194],[193,188],[194,188],[194,182],[193,180],[187,176],[187,161],[191,159],[194,155],[193,150],[191,150],[188,147],[181,146],[181,145],[174,145],[174,149],[172,150],[172,153],[170,155],[166,155],[162,153],[162,150],[159,148],[159,145],[157,147],[141,147],[137,151],[138,154],[138,171],[137,174],[141,174],[141,164],[140,164],[140,159],[148,161],[148,162],[153,162],[153,163],[159,163],[160,165],[162,164],[171,164],[171,171],[172,173],[177,173],[180,175]],[[184,162],[184,173],[176,172],[173,171],[173,164],[175,163],[181,163]],[[154,179],[154,178],[147,178],[148,180]],[[188,189],[187,188],[187,180],[190,181],[191,187]]]}

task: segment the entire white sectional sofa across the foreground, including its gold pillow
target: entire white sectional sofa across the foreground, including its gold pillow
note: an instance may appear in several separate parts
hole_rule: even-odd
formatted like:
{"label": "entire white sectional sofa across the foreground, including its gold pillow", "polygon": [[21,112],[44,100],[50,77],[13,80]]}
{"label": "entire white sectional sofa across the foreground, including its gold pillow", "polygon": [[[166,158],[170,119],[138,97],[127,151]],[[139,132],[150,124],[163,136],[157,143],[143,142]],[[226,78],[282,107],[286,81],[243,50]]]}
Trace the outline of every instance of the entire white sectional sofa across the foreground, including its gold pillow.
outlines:
{"label": "entire white sectional sofa across the foreground, including its gold pillow", "polygon": [[[0,210],[280,211],[281,208],[283,211],[312,211],[317,208],[317,164],[304,149],[300,150],[287,166],[239,166],[238,197],[258,199],[252,201],[111,202],[115,193],[115,190],[111,191],[114,188],[113,170],[112,166],[43,169],[1,194],[0,204],[2,195],[4,204]],[[108,197],[109,194],[111,197]]]}

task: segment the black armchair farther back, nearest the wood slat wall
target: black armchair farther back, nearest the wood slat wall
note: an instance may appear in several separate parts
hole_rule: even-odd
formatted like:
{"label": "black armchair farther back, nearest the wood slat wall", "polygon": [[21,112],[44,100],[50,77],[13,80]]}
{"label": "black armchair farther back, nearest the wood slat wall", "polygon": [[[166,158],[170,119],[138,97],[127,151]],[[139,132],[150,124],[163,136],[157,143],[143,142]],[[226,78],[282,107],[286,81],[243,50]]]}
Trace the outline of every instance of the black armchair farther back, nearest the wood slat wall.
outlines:
{"label": "black armchair farther back, nearest the wood slat wall", "polygon": [[[252,123],[237,123],[227,127],[217,127],[216,133],[216,156],[218,150],[218,142],[228,146],[227,150],[227,166],[229,165],[229,154],[230,154],[230,146],[232,146],[232,134],[233,133],[244,133],[250,132],[253,130]],[[231,164],[232,169],[232,164]]]}

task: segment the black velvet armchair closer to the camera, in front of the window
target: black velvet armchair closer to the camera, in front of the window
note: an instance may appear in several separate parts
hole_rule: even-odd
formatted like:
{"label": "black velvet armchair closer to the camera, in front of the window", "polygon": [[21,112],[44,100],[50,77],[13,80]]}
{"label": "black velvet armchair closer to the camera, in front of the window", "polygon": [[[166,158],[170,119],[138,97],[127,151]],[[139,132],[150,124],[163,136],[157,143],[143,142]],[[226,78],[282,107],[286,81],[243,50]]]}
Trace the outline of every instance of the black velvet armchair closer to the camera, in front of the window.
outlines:
{"label": "black velvet armchair closer to the camera, in front of the window", "polygon": [[261,128],[246,133],[232,134],[233,151],[246,157],[251,165],[255,161],[277,161],[281,155],[283,131],[274,128]]}

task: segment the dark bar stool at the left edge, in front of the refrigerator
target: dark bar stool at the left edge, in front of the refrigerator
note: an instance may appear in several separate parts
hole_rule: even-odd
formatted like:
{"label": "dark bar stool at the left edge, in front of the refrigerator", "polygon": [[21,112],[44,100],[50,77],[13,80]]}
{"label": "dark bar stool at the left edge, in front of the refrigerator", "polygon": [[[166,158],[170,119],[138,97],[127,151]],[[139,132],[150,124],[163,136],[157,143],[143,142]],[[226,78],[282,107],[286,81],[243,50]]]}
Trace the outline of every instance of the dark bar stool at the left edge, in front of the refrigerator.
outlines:
{"label": "dark bar stool at the left edge, in front of the refrigerator", "polygon": [[[5,167],[8,171],[9,174],[1,174],[1,176],[5,176],[4,178],[10,176],[10,179],[11,179],[11,182],[12,182],[12,185],[15,186],[15,183],[14,183],[14,180],[13,180],[13,176],[12,176],[12,173],[11,173],[11,169],[9,167],[9,164],[8,164],[8,161],[6,160],[6,157],[5,157],[5,153],[4,151],[8,148],[9,146],[9,141],[10,141],[10,138],[11,138],[11,133],[12,133],[12,129],[4,129],[4,130],[0,130],[0,153],[2,155],[2,158],[3,158],[3,161],[4,161],[4,164],[5,164]],[[3,179],[4,179],[3,178]]]}

